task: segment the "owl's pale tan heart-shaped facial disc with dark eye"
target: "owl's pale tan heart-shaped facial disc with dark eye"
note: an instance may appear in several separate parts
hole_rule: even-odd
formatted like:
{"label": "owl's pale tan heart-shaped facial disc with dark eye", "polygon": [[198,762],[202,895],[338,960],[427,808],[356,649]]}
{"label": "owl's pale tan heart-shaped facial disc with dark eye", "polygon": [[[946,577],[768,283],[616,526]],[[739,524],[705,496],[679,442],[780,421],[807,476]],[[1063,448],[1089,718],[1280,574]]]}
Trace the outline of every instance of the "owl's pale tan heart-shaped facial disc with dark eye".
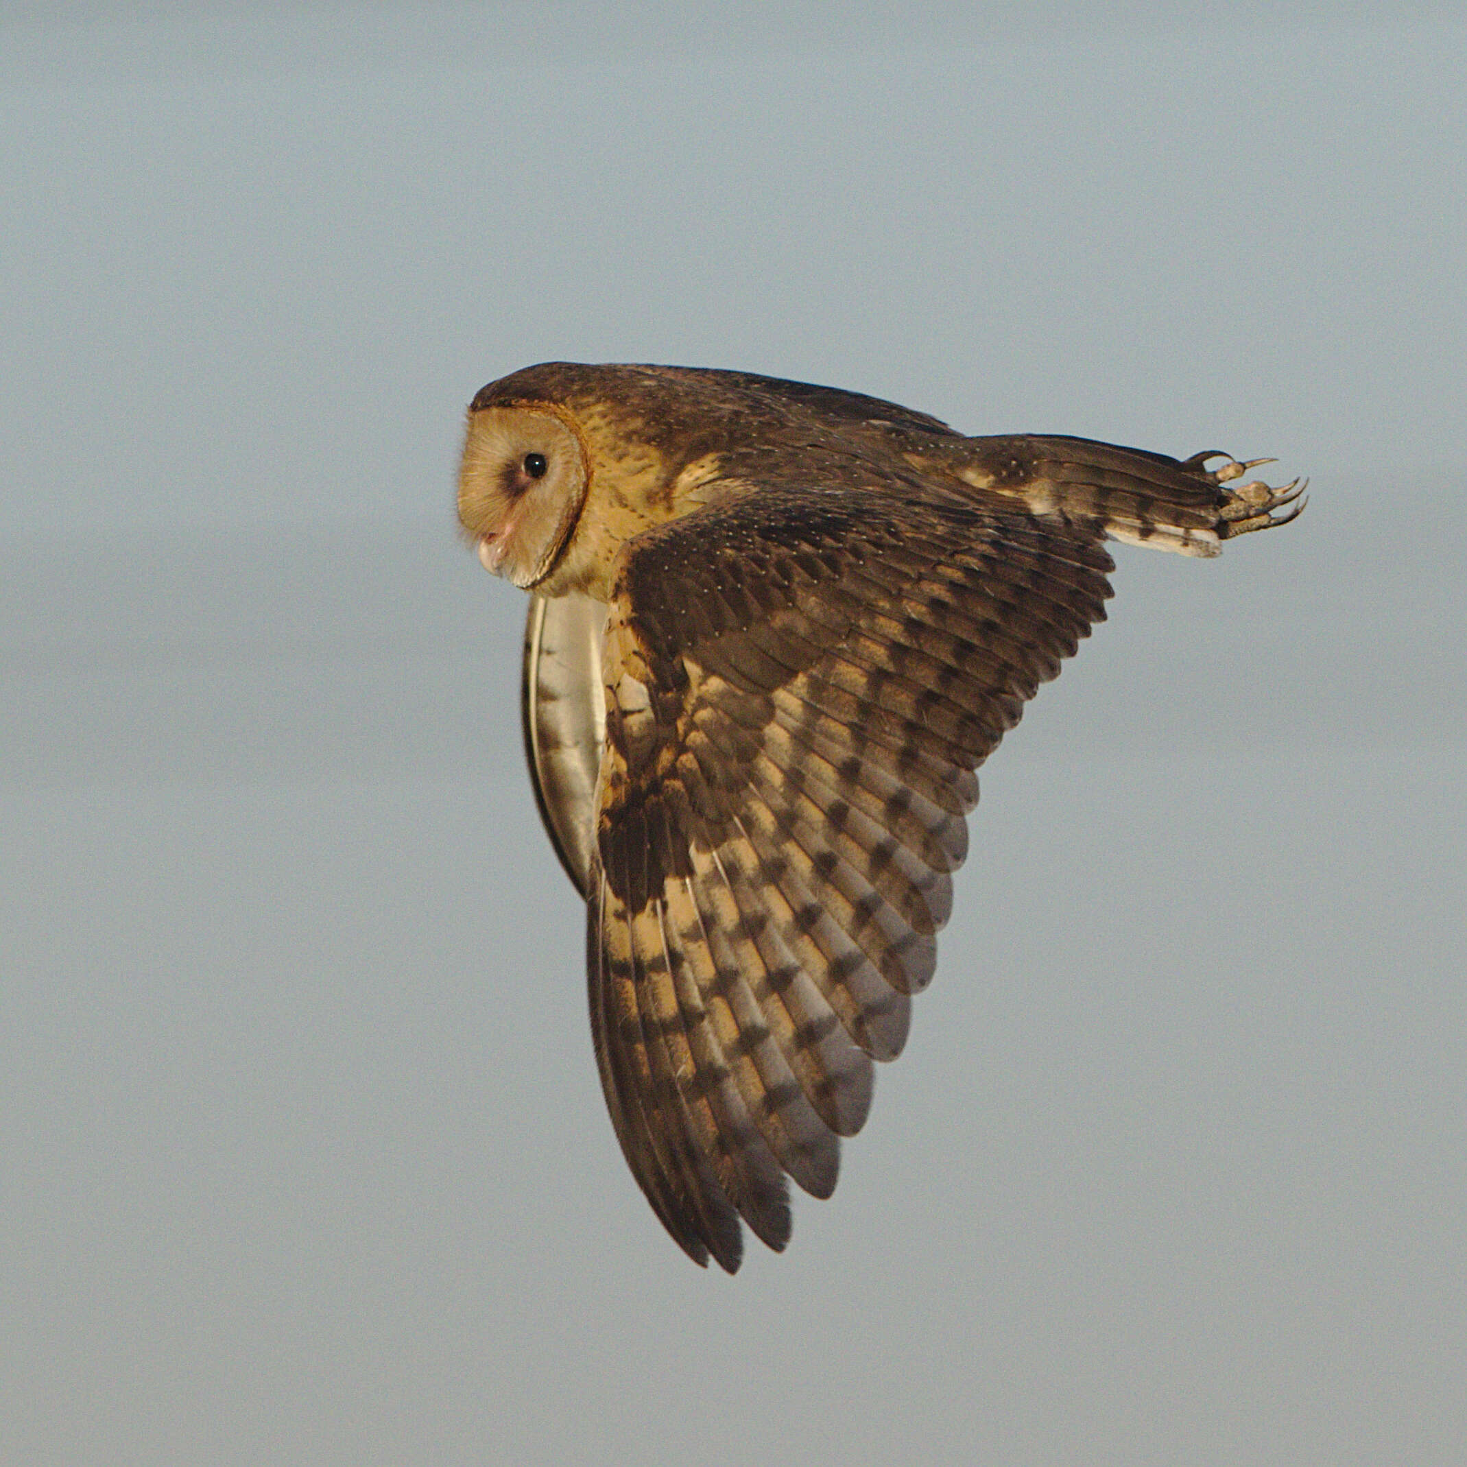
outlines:
{"label": "owl's pale tan heart-shaped facial disc with dark eye", "polygon": [[543,581],[575,527],[588,481],[579,436],[550,403],[469,412],[459,522],[494,575],[519,587]]}

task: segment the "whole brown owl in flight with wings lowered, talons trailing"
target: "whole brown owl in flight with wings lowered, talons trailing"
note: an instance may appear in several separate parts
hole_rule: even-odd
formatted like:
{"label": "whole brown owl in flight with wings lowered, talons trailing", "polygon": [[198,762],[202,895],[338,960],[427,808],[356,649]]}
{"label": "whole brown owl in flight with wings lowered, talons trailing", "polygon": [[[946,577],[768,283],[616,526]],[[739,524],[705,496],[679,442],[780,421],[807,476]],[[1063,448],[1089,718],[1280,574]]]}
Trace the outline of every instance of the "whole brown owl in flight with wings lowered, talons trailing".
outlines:
{"label": "whole brown owl in flight with wings lowered, talons trailing", "polygon": [[[1216,555],[1298,481],[964,437],[832,387],[547,362],[474,399],[458,509],[530,591],[524,728],[587,902],[622,1152],[735,1270],[835,1187],[936,965],[974,770],[1105,616],[1102,541]],[[1209,467],[1212,465],[1212,467]]]}

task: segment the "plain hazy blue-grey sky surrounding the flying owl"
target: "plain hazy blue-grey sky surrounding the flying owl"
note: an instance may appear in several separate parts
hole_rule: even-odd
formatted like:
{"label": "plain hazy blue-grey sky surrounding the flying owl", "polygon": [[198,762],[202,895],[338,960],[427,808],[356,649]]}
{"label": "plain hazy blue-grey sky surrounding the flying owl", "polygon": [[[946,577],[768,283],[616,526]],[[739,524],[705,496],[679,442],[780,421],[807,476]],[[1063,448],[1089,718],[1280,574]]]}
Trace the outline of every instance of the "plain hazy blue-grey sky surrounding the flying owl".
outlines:
{"label": "plain hazy blue-grey sky surrounding the flying owl", "polygon": [[[0,1461],[1460,1461],[1457,7],[114,16],[0,18]],[[453,534],[556,356],[1311,477],[1118,547],[732,1281]]]}

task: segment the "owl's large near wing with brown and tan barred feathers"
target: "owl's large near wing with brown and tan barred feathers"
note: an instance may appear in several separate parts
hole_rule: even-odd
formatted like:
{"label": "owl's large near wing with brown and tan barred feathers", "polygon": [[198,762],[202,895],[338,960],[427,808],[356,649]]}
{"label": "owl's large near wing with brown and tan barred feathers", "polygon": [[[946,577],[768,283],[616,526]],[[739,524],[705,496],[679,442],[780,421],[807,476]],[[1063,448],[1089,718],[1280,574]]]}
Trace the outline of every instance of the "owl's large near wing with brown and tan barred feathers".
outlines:
{"label": "owl's large near wing with brown and tan barred feathers", "polygon": [[1100,531],[754,486],[629,541],[604,641],[591,1024],[644,1193],[700,1263],[835,1187],[930,980],[974,769],[1103,618]]}

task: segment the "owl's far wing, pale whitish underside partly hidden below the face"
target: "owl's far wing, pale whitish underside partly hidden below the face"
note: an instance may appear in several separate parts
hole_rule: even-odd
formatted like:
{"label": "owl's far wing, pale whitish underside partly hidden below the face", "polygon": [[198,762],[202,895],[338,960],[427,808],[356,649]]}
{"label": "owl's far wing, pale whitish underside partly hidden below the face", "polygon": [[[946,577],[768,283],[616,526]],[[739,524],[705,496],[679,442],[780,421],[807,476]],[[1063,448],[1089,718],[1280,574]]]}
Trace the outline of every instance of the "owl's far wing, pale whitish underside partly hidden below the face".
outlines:
{"label": "owl's far wing, pale whitish underside partly hidden below the face", "polygon": [[585,596],[531,596],[519,716],[530,783],[555,854],[585,896],[596,775],[601,767],[606,607]]}

